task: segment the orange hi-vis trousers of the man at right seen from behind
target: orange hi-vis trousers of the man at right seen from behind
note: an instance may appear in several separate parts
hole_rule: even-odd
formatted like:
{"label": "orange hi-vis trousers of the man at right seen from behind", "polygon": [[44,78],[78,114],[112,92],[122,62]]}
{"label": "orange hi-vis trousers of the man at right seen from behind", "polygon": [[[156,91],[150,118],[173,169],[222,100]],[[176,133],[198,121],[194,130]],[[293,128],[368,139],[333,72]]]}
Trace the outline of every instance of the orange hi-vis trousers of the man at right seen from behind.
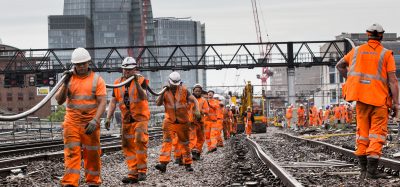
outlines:
{"label": "orange hi-vis trousers of the man at right seen from behind", "polygon": [[357,131],[355,155],[379,158],[386,141],[388,107],[372,106],[357,101]]}

